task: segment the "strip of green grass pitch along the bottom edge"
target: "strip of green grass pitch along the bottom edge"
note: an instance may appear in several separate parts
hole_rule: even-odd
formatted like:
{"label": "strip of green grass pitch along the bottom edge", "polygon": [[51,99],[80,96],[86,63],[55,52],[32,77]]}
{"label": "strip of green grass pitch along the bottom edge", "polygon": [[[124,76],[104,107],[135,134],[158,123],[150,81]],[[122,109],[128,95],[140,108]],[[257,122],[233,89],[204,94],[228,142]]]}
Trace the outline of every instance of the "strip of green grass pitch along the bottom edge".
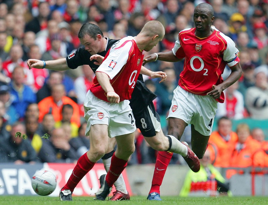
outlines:
{"label": "strip of green grass pitch along the bottom edge", "polygon": [[49,196],[0,196],[1,205],[59,205],[59,204],[75,204],[75,205],[110,205],[110,204],[126,204],[126,205],[267,205],[268,197],[185,197],[163,196],[163,201],[148,201],[145,196],[133,196],[130,201],[95,201],[93,197],[73,197],[72,202],[59,201],[58,197]]}

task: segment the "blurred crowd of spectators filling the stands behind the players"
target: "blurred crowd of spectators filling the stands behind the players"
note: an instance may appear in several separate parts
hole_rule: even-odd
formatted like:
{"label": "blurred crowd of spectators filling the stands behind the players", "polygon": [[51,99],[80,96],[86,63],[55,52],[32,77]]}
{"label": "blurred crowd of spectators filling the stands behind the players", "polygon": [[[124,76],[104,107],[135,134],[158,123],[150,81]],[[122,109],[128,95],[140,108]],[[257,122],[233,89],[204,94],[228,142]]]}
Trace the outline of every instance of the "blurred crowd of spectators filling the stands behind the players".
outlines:
{"label": "blurred crowd of spectators filling the stands behind the players", "polygon": [[[106,37],[121,39],[137,35],[147,21],[159,20],[165,37],[145,56],[165,52],[173,48],[181,30],[194,27],[194,8],[202,2],[213,6],[216,29],[235,41],[243,70],[239,81],[224,91],[225,102],[218,104],[220,120],[210,139],[210,157],[219,167],[268,167],[264,131],[250,130],[247,124],[231,130],[232,119],[268,120],[267,0],[2,0],[0,162],[76,162],[89,148],[83,102],[93,71],[88,65],[60,72],[29,69],[27,59],[56,60],[76,51],[85,22],[98,25]],[[167,115],[183,66],[183,61],[146,64],[168,76],[161,84],[145,78],[147,87],[157,94],[154,104],[162,116]],[[226,67],[223,78],[229,73]],[[25,133],[25,139],[17,132]],[[139,130],[136,136],[129,164],[154,163],[156,152]],[[179,156],[173,155],[172,163],[181,163]]]}

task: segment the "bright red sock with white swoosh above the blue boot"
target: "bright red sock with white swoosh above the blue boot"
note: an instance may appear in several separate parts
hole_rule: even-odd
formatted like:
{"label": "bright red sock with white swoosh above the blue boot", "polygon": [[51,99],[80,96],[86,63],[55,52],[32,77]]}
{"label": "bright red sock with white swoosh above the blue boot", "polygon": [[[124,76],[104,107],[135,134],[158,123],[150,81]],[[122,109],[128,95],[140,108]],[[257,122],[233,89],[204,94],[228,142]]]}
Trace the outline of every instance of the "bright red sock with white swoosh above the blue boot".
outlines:
{"label": "bright red sock with white swoosh above the blue boot", "polygon": [[173,155],[172,152],[166,152],[166,151],[158,152],[153,172],[152,186],[149,194],[152,192],[157,192],[160,194],[160,186],[163,182],[163,178],[172,155]]}

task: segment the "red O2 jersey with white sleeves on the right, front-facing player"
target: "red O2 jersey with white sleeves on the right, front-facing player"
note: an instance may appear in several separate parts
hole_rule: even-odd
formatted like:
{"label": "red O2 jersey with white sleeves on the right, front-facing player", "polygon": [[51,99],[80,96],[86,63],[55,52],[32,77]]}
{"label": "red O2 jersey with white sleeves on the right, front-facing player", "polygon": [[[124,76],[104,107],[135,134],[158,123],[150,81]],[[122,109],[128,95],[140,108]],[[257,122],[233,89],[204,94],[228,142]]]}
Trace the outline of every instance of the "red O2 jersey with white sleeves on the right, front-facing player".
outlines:
{"label": "red O2 jersey with white sleeves on the right, front-facing player", "polygon": [[[197,95],[206,95],[212,85],[223,82],[221,74],[226,64],[232,67],[240,61],[234,41],[212,28],[214,32],[205,38],[196,37],[195,28],[182,30],[172,49],[178,58],[185,57],[178,84]],[[217,101],[224,101],[223,92]]]}

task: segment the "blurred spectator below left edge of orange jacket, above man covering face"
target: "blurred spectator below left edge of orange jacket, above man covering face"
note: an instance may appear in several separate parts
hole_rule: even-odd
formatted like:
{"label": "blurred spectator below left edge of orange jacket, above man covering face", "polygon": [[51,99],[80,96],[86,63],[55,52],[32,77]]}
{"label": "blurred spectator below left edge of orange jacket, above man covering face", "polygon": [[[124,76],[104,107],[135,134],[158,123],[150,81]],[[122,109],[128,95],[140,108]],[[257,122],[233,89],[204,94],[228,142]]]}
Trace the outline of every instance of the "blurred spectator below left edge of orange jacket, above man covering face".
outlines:
{"label": "blurred spectator below left edge of orange jacket, above man covering face", "polygon": [[55,128],[54,116],[50,113],[44,115],[41,126],[38,128],[37,133],[39,136],[44,136],[46,133],[50,136],[52,130]]}

